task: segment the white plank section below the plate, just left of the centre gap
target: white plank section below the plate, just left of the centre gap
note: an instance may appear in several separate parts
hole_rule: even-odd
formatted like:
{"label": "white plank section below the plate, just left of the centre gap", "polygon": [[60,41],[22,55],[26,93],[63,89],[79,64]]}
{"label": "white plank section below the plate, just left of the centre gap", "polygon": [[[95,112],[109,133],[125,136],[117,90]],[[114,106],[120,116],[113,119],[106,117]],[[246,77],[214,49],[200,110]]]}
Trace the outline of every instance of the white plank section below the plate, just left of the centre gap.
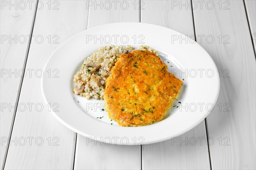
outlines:
{"label": "white plank section below the plate, just left of the centre gap", "polygon": [[77,135],[75,170],[139,170],[140,161],[140,145],[109,145]]}

